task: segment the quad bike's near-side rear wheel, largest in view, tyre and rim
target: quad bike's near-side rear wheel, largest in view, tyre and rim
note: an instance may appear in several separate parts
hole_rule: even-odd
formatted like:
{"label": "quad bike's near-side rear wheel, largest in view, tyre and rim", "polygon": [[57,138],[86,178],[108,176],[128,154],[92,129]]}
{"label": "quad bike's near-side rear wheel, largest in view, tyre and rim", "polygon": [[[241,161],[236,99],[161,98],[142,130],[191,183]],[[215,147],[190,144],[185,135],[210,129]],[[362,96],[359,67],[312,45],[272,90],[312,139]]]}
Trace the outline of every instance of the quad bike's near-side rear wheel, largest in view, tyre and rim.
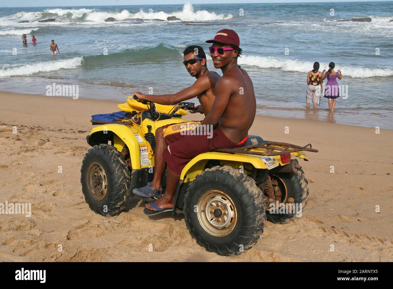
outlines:
{"label": "quad bike's near-side rear wheel, largest in view, tyre and rim", "polygon": [[185,223],[191,236],[209,252],[239,255],[263,233],[265,202],[255,182],[230,166],[206,169],[184,198]]}

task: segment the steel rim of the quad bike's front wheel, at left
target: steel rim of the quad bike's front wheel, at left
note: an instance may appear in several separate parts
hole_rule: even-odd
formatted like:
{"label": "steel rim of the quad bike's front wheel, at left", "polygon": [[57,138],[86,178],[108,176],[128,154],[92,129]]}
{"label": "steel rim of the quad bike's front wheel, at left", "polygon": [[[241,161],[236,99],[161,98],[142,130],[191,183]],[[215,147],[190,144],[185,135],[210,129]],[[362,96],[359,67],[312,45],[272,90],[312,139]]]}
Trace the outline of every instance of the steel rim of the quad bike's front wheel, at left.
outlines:
{"label": "steel rim of the quad bike's front wheel, at left", "polygon": [[87,185],[89,193],[96,201],[102,201],[107,195],[108,180],[100,164],[93,163],[87,170]]}

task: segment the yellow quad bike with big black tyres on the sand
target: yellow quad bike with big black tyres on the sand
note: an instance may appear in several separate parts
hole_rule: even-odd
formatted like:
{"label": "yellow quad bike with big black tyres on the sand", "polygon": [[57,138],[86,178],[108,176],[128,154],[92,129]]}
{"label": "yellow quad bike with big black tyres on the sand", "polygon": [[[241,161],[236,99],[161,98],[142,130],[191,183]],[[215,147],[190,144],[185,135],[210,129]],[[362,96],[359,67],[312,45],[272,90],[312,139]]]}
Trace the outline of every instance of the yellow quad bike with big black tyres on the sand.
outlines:
{"label": "yellow quad bike with big black tyres on the sand", "polygon": [[[187,121],[182,118],[186,110],[195,109],[188,102],[165,106],[133,98],[118,108],[130,113],[128,119],[92,120],[98,126],[87,136],[92,148],[81,168],[86,202],[106,217],[118,215],[129,197],[136,197],[132,190],[151,182],[156,129]],[[189,232],[206,250],[240,254],[257,242],[266,217],[286,223],[307,204],[308,183],[296,159],[307,160],[303,151],[318,152],[310,144],[266,142],[250,135],[244,147],[202,153],[183,169],[173,209],[184,213]],[[165,174],[162,186],[165,190]]]}

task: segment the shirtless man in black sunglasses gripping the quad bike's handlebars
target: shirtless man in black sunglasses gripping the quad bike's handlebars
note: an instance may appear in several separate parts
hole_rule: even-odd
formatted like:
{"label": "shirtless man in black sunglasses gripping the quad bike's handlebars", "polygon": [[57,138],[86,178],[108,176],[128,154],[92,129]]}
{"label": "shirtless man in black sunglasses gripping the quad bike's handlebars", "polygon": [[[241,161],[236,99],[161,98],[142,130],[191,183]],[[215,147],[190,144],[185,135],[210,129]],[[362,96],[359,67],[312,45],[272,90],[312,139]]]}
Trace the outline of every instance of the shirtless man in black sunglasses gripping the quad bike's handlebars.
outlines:
{"label": "shirtless man in black sunglasses gripping the quad bike's handlebars", "polygon": [[[207,115],[210,112],[211,106],[215,98],[215,85],[220,79],[220,76],[215,72],[210,72],[206,66],[206,55],[203,48],[197,45],[188,46],[185,48],[183,64],[187,69],[188,73],[196,78],[196,81],[191,87],[187,87],[175,94],[164,94],[164,95],[151,95],[141,94],[135,92],[134,94],[139,98],[139,101],[148,100],[154,103],[163,105],[175,105],[181,101],[185,101],[195,96],[201,105],[198,105],[198,110],[194,110],[191,113],[200,112]],[[163,152],[167,148],[167,142],[165,138],[172,135],[174,137],[180,134],[180,131],[185,129],[178,129],[179,125],[185,125],[187,128],[193,128],[198,125],[200,121],[190,121],[184,123],[173,123],[165,125],[156,130],[156,151],[154,153],[154,176],[151,183],[148,183],[142,188],[136,188],[132,192],[135,195],[145,198],[157,199],[162,191],[161,179],[165,172],[165,160],[163,159]]]}

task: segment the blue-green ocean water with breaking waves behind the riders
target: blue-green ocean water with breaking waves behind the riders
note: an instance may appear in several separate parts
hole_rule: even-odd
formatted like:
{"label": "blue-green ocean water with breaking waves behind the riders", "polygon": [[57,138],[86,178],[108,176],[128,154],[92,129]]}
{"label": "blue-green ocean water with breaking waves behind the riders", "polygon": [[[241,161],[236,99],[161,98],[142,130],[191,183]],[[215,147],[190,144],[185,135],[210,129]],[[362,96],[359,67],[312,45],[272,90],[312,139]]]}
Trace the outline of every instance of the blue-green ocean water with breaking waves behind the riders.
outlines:
{"label": "blue-green ocean water with breaking waves behind the riders", "polygon": [[[337,21],[358,17],[372,21]],[[56,21],[38,22],[46,18]],[[0,8],[0,90],[45,95],[53,83],[78,85],[82,98],[118,102],[149,88],[174,93],[195,80],[182,64],[184,48],[207,52],[204,41],[230,28],[241,40],[239,64],[253,80],[258,114],[393,129],[391,19],[392,1]],[[50,54],[51,39],[60,55]],[[334,114],[323,97],[316,111],[305,109],[314,61],[342,71],[347,98]],[[217,71],[209,57],[208,67]]]}

